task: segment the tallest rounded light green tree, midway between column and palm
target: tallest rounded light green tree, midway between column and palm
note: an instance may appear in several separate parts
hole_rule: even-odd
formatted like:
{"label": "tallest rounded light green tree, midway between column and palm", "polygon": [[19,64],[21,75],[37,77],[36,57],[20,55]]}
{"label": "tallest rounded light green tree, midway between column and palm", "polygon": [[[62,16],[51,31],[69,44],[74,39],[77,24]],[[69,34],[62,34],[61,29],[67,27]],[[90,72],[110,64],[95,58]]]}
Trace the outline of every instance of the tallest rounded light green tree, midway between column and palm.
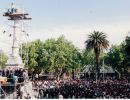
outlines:
{"label": "tallest rounded light green tree, midway between column and palm", "polygon": [[[48,59],[50,65],[50,71],[54,71],[57,74],[57,78],[63,72],[74,69],[80,63],[78,50],[74,45],[67,41],[64,36],[60,36],[57,40],[48,39],[44,43],[44,49],[49,52],[51,57]],[[79,60],[79,61],[78,61]]]}

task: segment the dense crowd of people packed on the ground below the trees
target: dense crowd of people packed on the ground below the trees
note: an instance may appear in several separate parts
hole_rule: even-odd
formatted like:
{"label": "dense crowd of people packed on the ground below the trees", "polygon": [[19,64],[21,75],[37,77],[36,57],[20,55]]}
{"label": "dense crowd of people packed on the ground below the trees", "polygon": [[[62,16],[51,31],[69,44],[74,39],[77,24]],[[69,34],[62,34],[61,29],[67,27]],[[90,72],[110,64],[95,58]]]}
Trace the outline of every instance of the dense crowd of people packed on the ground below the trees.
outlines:
{"label": "dense crowd of people packed on the ground below the trees", "polygon": [[37,97],[44,98],[130,98],[130,83],[120,80],[39,80],[33,82]]}

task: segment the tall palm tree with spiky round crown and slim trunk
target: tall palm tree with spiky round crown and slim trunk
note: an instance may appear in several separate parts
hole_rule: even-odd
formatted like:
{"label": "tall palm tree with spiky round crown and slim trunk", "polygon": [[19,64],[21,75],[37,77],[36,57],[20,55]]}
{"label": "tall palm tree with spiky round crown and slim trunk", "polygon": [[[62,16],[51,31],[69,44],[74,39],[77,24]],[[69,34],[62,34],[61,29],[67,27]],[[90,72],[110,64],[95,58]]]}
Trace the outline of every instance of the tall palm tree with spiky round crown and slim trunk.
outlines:
{"label": "tall palm tree with spiky round crown and slim trunk", "polygon": [[86,50],[94,50],[95,53],[95,60],[96,60],[96,77],[99,79],[99,56],[100,52],[103,49],[107,49],[109,46],[109,41],[106,39],[106,34],[99,31],[94,31],[90,35],[88,35],[88,40],[85,41]]}

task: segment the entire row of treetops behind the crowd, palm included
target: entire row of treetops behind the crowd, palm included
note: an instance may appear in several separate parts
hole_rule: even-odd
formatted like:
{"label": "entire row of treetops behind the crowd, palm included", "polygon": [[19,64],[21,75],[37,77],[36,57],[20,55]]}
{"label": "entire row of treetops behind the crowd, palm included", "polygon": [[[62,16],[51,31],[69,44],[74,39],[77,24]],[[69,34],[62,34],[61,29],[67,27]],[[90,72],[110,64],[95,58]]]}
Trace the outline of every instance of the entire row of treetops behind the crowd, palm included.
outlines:
{"label": "entire row of treetops behind the crowd, palm included", "polygon": [[[86,40],[86,49],[80,51],[62,35],[57,39],[50,38],[46,41],[36,40],[22,44],[22,59],[25,66],[36,70],[38,73],[52,73],[57,77],[64,72],[82,69],[85,65],[99,65],[103,59],[105,65],[112,66],[119,73],[128,72],[130,66],[130,37],[120,45],[112,45],[107,53],[109,42],[106,34],[94,31]],[[75,70],[76,71],[76,70]]]}

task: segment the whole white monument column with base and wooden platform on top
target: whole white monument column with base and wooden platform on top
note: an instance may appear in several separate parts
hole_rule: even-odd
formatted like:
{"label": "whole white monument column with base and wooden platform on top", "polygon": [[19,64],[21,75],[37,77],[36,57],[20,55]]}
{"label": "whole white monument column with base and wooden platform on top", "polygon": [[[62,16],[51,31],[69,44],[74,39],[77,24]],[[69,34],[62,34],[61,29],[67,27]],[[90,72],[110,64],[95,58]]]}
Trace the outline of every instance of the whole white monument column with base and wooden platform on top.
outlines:
{"label": "whole white monument column with base and wooden platform on top", "polygon": [[7,60],[6,68],[24,68],[22,58],[20,57],[20,32],[21,26],[20,23],[23,20],[31,20],[27,17],[29,14],[23,12],[21,9],[17,8],[14,3],[11,4],[11,8],[8,9],[3,16],[8,17],[10,21],[13,22],[13,44],[12,44],[12,53]]}

